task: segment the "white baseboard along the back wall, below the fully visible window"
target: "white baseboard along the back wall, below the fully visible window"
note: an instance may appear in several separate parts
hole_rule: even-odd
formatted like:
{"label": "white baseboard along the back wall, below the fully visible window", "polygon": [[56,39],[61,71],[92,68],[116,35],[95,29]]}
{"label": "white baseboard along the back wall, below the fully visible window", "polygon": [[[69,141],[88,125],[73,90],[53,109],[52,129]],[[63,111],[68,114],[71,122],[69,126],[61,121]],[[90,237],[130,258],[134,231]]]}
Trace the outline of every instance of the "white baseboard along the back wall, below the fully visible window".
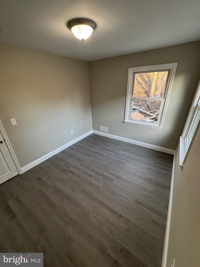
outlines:
{"label": "white baseboard along the back wall, below the fully visible window", "polygon": [[137,145],[137,146],[144,146],[144,147],[151,148],[151,149],[154,149],[154,150],[157,150],[157,151],[161,151],[161,152],[165,152],[165,153],[168,153],[168,154],[171,154],[171,155],[175,154],[175,150],[169,149],[169,148],[165,148],[165,147],[162,147],[162,146],[155,146],[155,145],[151,145],[151,144],[148,144],[148,143],[136,141],[136,140],[133,140],[133,139],[128,139],[128,138],[117,136],[117,135],[108,134],[108,133],[105,133],[105,132],[95,131],[95,130],[93,130],[93,133],[101,135],[101,136],[106,136],[106,137],[109,137],[109,138],[113,138],[113,139],[116,139],[116,140],[119,140],[119,141],[127,142],[127,143],[130,143],[130,144],[134,144],[134,145]]}

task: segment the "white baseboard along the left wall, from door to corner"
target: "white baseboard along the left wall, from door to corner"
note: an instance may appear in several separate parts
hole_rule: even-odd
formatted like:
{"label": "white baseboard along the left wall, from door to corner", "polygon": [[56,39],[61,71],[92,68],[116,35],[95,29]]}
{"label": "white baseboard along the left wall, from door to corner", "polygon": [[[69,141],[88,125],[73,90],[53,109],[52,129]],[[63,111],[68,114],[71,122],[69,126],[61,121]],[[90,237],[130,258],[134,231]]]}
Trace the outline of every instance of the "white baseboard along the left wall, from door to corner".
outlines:
{"label": "white baseboard along the left wall, from door to corner", "polygon": [[27,164],[26,166],[22,167],[22,173],[30,170],[31,168],[35,167],[36,165],[40,164],[41,162],[47,160],[50,157],[53,157],[54,155],[58,154],[60,151],[68,148],[69,146],[72,146],[73,144],[77,143],[78,141],[82,140],[83,138],[87,137],[88,135],[91,135],[93,133],[93,130],[83,134],[82,136],[77,137],[76,139],[68,142],[67,144],[58,147],[57,149],[49,152],[48,154],[38,158],[37,160]]}

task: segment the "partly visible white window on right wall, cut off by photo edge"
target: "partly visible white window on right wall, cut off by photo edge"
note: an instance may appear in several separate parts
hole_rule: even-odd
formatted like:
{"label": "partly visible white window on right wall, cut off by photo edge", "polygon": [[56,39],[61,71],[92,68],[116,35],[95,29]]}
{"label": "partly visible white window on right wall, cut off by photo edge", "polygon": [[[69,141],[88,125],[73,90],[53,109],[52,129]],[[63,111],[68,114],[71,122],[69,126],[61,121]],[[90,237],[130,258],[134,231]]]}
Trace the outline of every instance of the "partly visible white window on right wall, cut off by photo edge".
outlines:
{"label": "partly visible white window on right wall, cut off by photo edge", "polygon": [[182,136],[180,136],[180,159],[179,165],[183,167],[188,152],[192,146],[192,141],[200,126],[200,81],[197,87],[192,106],[190,108],[187,121],[183,130]]}

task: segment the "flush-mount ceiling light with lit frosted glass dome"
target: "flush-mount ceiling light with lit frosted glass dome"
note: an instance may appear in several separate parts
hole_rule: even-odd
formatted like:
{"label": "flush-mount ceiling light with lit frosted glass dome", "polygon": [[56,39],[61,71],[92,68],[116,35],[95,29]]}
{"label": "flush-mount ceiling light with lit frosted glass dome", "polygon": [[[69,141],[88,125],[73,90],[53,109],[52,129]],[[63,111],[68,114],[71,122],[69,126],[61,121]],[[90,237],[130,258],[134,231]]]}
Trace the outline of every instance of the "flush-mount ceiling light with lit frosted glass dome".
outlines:
{"label": "flush-mount ceiling light with lit frosted glass dome", "polygon": [[78,39],[84,41],[88,39],[93,33],[93,30],[97,28],[97,24],[87,18],[75,18],[68,21],[67,27]]}

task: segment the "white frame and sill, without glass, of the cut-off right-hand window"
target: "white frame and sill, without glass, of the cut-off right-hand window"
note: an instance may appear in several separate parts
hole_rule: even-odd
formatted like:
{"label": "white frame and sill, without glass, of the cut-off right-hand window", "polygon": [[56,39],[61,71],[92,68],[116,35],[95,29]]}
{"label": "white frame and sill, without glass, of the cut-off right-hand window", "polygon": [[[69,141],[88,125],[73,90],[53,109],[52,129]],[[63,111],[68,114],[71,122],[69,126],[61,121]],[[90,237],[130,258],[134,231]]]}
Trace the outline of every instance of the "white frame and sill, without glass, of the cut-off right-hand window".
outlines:
{"label": "white frame and sill, without glass, of the cut-off right-hand window", "polygon": [[198,131],[198,128],[200,127],[200,121],[198,122],[197,128],[194,132],[194,135],[192,137],[191,142],[188,140],[188,135],[190,133],[190,130],[192,128],[193,122],[197,116],[197,111],[200,110],[200,80],[197,86],[197,90],[194,96],[194,99],[192,101],[192,105],[189,111],[189,114],[187,116],[187,120],[183,129],[183,133],[180,136],[180,157],[179,157],[179,166],[183,168],[184,163],[187,159],[188,153],[191,149],[192,143],[194,141],[194,138],[196,136],[196,133]]}

